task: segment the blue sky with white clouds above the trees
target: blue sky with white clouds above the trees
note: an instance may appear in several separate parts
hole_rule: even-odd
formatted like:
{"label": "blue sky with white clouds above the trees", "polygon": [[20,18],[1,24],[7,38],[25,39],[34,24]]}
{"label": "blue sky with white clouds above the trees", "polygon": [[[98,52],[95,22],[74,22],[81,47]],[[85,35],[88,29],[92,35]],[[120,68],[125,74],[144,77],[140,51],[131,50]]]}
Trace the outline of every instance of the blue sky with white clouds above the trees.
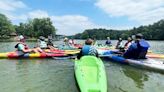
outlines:
{"label": "blue sky with white clouds above the trees", "polygon": [[50,17],[57,34],[85,29],[131,29],[164,19],[164,0],[0,0],[13,24]]}

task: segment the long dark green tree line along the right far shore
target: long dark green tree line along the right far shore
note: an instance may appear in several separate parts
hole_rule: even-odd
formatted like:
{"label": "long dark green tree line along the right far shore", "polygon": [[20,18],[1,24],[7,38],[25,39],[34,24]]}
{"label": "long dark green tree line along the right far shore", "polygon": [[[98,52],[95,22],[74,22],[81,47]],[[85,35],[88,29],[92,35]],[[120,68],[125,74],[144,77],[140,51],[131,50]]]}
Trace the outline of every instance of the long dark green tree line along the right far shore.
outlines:
{"label": "long dark green tree line along the right far shore", "polygon": [[164,20],[160,20],[152,25],[134,27],[130,30],[86,29],[83,33],[78,33],[71,37],[75,39],[93,38],[100,40],[106,39],[107,37],[111,39],[118,39],[120,37],[127,39],[129,36],[137,33],[142,33],[144,38],[148,40],[164,40]]}

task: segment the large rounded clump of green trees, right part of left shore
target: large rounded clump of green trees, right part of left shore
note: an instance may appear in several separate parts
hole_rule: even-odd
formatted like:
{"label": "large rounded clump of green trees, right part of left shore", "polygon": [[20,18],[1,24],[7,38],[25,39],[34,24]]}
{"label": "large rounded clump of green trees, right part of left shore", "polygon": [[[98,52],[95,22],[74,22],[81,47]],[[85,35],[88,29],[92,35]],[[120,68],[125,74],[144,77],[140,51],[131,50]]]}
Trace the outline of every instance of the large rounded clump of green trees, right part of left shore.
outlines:
{"label": "large rounded clump of green trees, right part of left shore", "polygon": [[20,23],[19,26],[15,26],[15,29],[17,34],[28,37],[48,37],[56,34],[56,29],[50,18],[34,18],[33,20],[28,20],[27,23]]}

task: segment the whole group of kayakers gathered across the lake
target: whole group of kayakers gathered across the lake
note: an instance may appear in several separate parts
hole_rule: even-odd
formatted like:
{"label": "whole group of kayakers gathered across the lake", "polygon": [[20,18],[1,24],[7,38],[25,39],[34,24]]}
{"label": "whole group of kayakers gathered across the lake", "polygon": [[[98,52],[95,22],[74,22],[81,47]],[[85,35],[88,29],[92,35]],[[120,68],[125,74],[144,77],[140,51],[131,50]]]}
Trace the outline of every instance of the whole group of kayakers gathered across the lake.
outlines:
{"label": "whole group of kayakers gathered across the lake", "polygon": [[[66,45],[72,45],[74,44],[74,40],[68,40],[68,38],[64,39],[64,43]],[[81,56],[84,55],[94,55],[98,57],[98,51],[94,47],[94,41],[90,38],[88,38],[85,41],[85,45],[81,48],[80,53],[78,54],[77,58],[80,59]],[[106,45],[111,46],[111,40],[110,37],[107,37],[107,41],[105,42]],[[125,58],[135,58],[135,59],[144,59],[146,58],[147,51],[149,49],[150,45],[148,42],[146,42],[143,39],[142,34],[136,34],[133,38],[128,37],[128,41],[123,45],[122,38],[119,38],[116,49],[119,49],[122,55]],[[56,50],[55,46],[52,43],[52,38],[48,37],[48,41],[45,41],[45,37],[40,36],[38,39],[37,46],[30,49],[28,45],[25,43],[25,39],[22,35],[19,36],[19,43],[15,45],[15,48],[17,49],[17,52],[19,54],[24,53],[44,53],[43,49],[50,49],[50,50]]]}

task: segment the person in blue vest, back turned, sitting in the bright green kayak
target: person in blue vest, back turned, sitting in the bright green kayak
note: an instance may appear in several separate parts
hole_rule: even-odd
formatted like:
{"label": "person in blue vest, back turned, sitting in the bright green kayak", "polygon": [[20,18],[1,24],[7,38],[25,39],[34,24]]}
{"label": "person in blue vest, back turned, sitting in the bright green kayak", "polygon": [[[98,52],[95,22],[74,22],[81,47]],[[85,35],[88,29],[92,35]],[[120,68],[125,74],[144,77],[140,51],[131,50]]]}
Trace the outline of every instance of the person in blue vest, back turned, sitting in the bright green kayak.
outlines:
{"label": "person in blue vest, back turned, sitting in the bright green kayak", "polygon": [[93,46],[93,40],[90,38],[85,41],[85,45],[82,47],[77,58],[80,59],[84,55],[93,55],[93,56],[98,57],[98,51]]}

